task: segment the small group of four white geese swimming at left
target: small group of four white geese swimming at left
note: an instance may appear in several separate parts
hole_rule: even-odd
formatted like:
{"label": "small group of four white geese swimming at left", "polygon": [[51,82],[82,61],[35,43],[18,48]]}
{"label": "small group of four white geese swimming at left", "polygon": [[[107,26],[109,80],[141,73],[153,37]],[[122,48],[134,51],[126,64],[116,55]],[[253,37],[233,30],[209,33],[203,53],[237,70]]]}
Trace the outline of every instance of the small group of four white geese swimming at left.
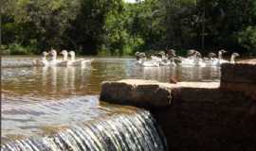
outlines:
{"label": "small group of four white geese swimming at left", "polygon": [[[60,53],[63,59],[57,59],[57,51],[51,49],[49,52],[44,51],[42,59],[36,59],[33,64],[36,66],[83,66],[85,63],[90,63],[93,59],[76,59],[74,51],[67,52],[63,50]],[[47,59],[47,56],[50,56]],[[70,56],[70,59],[68,58]]]}

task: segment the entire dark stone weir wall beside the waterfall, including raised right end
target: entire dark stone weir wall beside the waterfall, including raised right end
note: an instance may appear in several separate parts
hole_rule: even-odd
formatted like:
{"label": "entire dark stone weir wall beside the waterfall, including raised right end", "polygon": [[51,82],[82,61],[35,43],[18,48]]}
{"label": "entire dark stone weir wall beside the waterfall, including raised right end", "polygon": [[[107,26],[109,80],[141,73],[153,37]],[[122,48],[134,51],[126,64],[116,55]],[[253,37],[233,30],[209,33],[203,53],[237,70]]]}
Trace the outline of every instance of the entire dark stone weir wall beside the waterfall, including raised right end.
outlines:
{"label": "entire dark stone weir wall beside the waterfall, including raised right end", "polygon": [[[100,99],[149,109],[162,128],[170,151],[255,151],[254,69],[253,65],[225,64],[221,82],[210,83],[106,81],[101,84]],[[242,87],[245,83],[250,89]]]}

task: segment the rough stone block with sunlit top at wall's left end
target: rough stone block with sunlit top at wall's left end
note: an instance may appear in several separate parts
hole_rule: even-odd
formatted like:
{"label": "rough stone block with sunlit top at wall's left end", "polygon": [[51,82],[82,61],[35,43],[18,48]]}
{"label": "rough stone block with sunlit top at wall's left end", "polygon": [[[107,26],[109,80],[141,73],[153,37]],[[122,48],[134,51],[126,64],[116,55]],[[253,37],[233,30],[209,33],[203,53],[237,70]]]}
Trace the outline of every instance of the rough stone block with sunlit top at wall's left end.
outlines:
{"label": "rough stone block with sunlit top at wall's left end", "polygon": [[102,101],[145,108],[159,108],[171,105],[170,87],[156,81],[127,79],[101,84]]}

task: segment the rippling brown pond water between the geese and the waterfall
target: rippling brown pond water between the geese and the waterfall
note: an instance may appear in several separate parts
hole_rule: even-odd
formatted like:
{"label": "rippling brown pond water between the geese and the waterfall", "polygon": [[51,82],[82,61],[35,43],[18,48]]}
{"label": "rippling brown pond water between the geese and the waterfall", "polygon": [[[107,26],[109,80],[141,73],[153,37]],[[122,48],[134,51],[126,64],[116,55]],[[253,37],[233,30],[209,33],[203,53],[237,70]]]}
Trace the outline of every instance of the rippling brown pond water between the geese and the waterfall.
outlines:
{"label": "rippling brown pond water between the geese and the waterfall", "polygon": [[216,81],[218,68],[153,67],[135,59],[95,58],[81,67],[32,67],[35,58],[2,59],[2,139],[46,135],[54,129],[125,112],[126,107],[102,105],[101,82],[122,78],[168,82]]}

